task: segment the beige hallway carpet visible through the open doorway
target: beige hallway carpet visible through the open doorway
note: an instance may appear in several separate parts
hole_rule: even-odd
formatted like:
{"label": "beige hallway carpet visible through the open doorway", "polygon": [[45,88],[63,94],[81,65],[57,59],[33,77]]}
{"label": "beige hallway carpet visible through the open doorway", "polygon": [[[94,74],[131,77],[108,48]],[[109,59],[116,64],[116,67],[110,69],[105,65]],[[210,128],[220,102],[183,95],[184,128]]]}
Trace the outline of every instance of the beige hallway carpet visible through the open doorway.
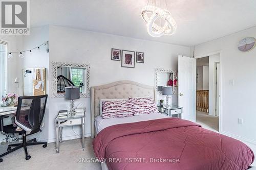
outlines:
{"label": "beige hallway carpet visible through the open doorway", "polygon": [[206,112],[197,111],[196,122],[203,128],[219,132],[219,117],[210,116]]}

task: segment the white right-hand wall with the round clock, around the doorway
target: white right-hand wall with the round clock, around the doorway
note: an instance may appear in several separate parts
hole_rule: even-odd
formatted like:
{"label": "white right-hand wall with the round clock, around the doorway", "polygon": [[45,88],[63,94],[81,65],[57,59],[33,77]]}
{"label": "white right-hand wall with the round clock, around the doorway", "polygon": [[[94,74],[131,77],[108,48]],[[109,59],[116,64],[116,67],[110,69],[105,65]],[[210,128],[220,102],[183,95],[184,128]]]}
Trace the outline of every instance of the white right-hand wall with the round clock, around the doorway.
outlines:
{"label": "white right-hand wall with the round clock, around the doorway", "polygon": [[[195,56],[221,52],[221,132],[256,143],[256,48],[249,52],[237,48],[248,36],[256,37],[256,27],[197,45]],[[242,125],[238,118],[243,119]]]}

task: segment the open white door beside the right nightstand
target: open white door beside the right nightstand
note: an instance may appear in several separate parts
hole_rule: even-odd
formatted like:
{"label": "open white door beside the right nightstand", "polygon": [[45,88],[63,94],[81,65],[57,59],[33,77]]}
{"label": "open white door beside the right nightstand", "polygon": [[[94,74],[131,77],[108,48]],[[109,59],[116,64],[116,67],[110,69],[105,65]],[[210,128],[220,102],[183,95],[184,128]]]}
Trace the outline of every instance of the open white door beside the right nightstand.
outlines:
{"label": "open white door beside the right nightstand", "polygon": [[196,122],[195,58],[178,56],[178,105],[183,107],[182,118]]}

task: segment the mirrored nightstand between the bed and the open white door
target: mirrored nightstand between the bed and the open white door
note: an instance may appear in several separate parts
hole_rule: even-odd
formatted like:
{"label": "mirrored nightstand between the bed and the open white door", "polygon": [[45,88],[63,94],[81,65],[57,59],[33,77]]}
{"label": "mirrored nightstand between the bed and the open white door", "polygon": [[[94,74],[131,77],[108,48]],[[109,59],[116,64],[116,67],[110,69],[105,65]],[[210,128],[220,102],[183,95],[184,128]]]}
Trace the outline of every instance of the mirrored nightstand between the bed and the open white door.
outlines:
{"label": "mirrored nightstand between the bed and the open white door", "polygon": [[158,111],[166,114],[167,116],[172,117],[173,115],[177,115],[178,118],[182,118],[182,107],[176,106],[176,105],[157,105]]}

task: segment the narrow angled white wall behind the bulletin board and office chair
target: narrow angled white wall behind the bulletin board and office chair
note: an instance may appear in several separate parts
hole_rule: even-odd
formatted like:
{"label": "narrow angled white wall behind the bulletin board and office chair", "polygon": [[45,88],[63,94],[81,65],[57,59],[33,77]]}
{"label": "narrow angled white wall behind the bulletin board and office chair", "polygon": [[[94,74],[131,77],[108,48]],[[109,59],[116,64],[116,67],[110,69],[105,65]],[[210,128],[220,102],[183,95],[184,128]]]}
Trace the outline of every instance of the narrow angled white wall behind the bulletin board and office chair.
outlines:
{"label": "narrow angled white wall behind the bulletin board and office chair", "polygon": [[[20,36],[18,37],[18,50],[29,50],[33,47],[36,47],[46,41],[49,40],[49,26],[31,28],[29,36]],[[46,52],[46,46],[41,46],[40,51],[37,50],[32,51],[32,55],[29,52],[24,53],[24,58],[17,57],[17,72],[18,77],[20,78],[20,89],[19,95],[23,95],[23,69],[24,68],[46,68],[46,91],[49,94],[49,53]],[[50,97],[50,95],[48,96]],[[47,102],[49,105],[49,99]],[[42,132],[36,133],[34,136],[38,140],[48,140],[49,136],[49,110],[48,106],[46,108],[45,116],[44,116],[44,127],[42,128]],[[51,120],[53,121],[53,120]],[[30,137],[30,138],[31,138]]]}

